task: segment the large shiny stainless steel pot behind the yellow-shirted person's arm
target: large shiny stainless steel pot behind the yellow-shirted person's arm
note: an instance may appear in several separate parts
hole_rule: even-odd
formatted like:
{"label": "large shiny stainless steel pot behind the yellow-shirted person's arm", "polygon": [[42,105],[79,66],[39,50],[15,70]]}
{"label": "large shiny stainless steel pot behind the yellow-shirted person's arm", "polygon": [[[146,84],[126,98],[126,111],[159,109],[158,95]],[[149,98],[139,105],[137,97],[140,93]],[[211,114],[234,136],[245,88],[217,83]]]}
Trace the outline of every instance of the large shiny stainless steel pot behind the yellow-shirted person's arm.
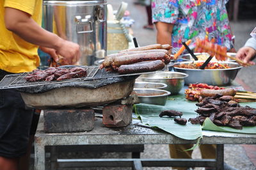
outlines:
{"label": "large shiny stainless steel pot behind the yellow-shirted person's arm", "polygon": [[81,47],[78,65],[93,65],[106,55],[106,0],[44,1],[44,27]]}

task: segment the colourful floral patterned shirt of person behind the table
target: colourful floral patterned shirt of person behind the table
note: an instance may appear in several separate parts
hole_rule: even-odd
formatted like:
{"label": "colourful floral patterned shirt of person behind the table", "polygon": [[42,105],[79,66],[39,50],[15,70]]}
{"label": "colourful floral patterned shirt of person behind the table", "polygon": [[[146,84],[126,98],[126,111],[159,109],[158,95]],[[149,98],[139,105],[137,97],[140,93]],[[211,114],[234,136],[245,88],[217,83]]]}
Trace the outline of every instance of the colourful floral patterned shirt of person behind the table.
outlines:
{"label": "colourful floral patterned shirt of person behind the table", "polygon": [[214,38],[215,43],[232,49],[232,34],[227,9],[228,0],[152,0],[153,22],[174,24],[172,32],[172,53],[176,53],[182,42],[191,39],[189,45],[195,48],[195,38]]}

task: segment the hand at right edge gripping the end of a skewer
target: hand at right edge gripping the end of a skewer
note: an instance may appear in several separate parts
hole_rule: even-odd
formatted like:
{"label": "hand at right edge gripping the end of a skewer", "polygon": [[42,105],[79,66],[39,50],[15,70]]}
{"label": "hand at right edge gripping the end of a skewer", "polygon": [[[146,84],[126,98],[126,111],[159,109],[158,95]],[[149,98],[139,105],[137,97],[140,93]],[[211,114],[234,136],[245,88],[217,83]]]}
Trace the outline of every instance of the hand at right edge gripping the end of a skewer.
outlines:
{"label": "hand at right edge gripping the end of a skewer", "polygon": [[244,63],[249,63],[252,65],[255,65],[251,59],[256,55],[256,50],[253,49],[252,47],[242,47],[241,49],[238,50],[236,54],[236,58],[241,59],[244,61]]}

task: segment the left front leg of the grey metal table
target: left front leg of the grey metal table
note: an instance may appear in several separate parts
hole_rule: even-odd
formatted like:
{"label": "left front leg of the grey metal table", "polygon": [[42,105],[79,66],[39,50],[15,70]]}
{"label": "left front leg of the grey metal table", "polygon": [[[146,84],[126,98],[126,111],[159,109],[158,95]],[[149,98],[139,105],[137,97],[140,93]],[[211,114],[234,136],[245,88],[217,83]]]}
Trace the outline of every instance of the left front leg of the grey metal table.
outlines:
{"label": "left front leg of the grey metal table", "polygon": [[35,170],[45,170],[45,146],[35,143]]}

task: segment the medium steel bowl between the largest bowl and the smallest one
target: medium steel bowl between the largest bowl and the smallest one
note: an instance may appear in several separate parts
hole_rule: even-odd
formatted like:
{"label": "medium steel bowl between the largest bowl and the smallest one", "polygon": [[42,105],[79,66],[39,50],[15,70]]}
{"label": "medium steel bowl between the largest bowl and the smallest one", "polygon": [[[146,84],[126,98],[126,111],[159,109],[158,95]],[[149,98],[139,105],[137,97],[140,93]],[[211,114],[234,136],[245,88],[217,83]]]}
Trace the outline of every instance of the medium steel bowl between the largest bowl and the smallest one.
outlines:
{"label": "medium steel bowl between the largest bowl and the smallest one", "polygon": [[170,91],[171,95],[177,95],[180,89],[184,87],[184,79],[186,77],[188,77],[188,74],[179,72],[149,73],[140,76],[142,81],[167,84],[164,90]]}

